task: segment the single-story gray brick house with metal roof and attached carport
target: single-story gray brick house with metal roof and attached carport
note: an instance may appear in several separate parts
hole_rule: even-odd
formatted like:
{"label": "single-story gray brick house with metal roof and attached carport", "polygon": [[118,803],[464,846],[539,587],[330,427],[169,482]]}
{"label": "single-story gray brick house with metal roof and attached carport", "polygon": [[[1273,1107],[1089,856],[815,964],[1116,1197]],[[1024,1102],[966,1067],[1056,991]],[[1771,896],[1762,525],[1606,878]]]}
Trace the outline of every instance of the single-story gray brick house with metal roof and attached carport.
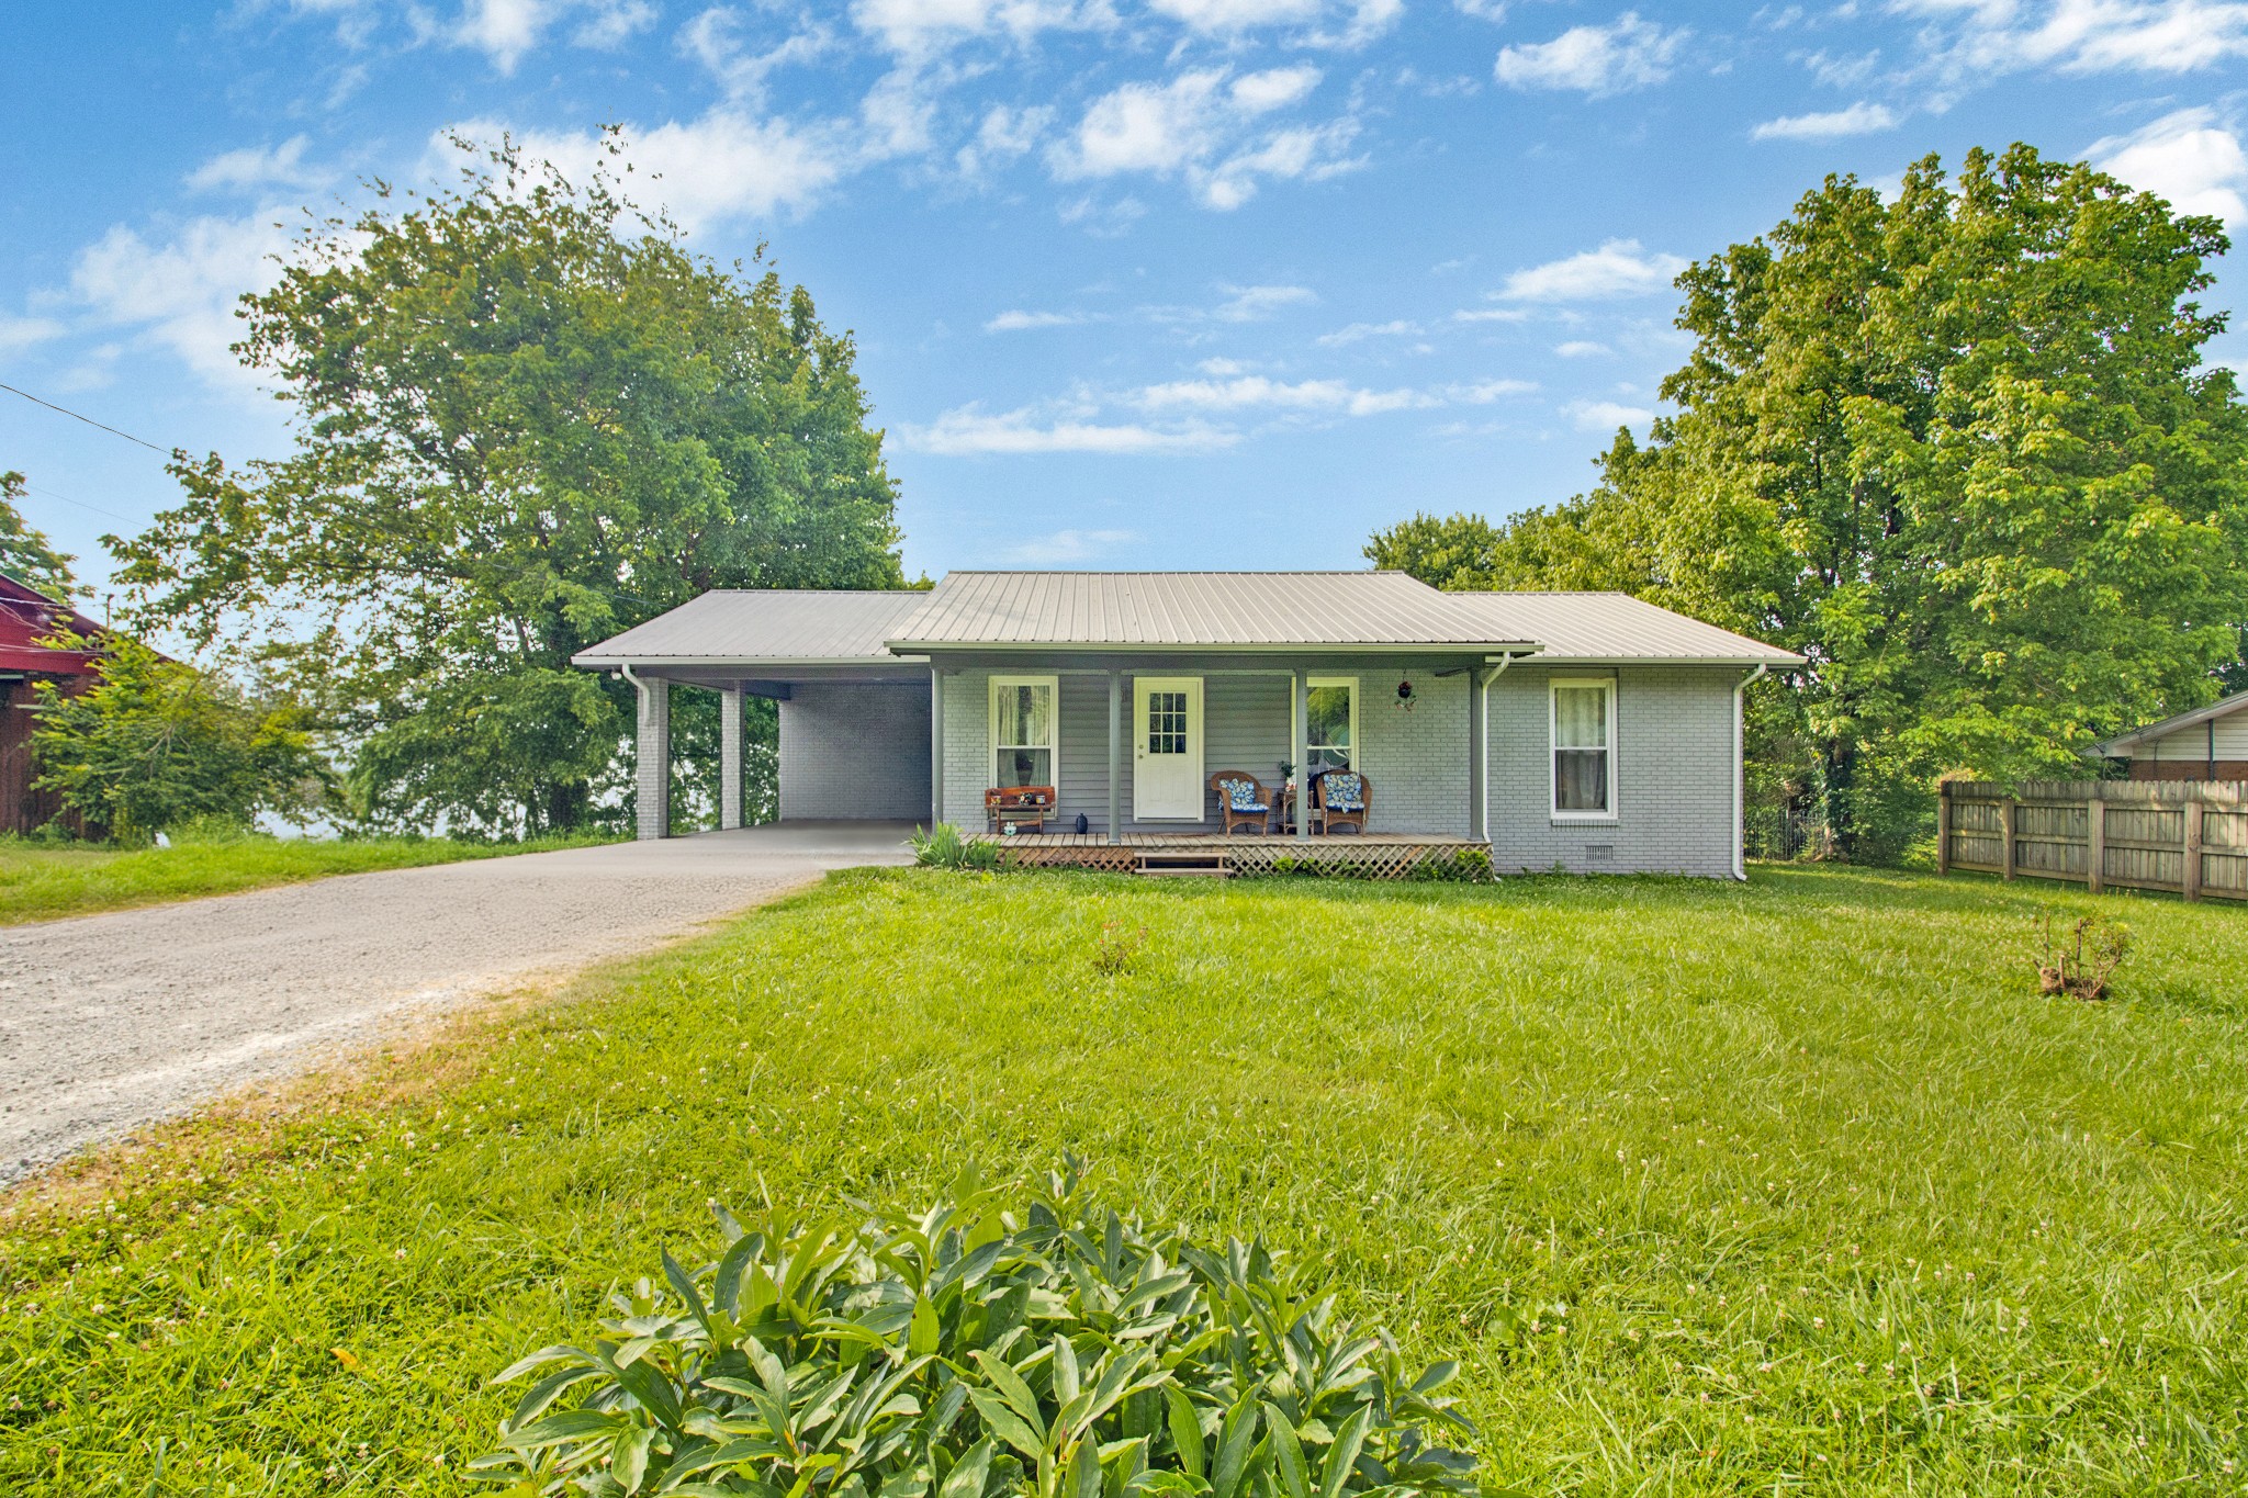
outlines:
{"label": "single-story gray brick house with metal roof and attached carport", "polygon": [[[1367,833],[1502,869],[1740,876],[1740,692],[1801,656],[1623,593],[1405,573],[951,573],[933,591],[706,593],[575,656],[638,687],[638,833],[668,833],[672,683],[780,703],[780,817],[985,826],[1052,786],[1095,840],[1218,833],[1209,777],[1367,782]],[[1286,766],[1286,770],[1284,770]],[[1311,817],[1293,820],[1308,838]],[[1335,833],[1342,838],[1349,833]]]}

